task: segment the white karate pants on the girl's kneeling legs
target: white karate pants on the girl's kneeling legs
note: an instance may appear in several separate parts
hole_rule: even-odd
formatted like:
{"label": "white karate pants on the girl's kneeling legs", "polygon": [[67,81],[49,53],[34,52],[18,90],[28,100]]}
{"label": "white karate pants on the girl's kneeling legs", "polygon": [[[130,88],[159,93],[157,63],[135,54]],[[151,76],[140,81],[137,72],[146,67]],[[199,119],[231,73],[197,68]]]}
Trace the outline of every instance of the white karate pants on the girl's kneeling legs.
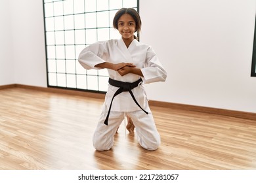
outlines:
{"label": "white karate pants on the girl's kneeling legs", "polygon": [[156,150],[160,146],[160,135],[156,129],[150,108],[147,107],[146,111],[148,111],[148,114],[142,110],[133,112],[111,111],[108,118],[108,125],[104,124],[106,113],[102,112],[93,135],[93,146],[99,151],[110,150],[110,148],[112,148],[114,145],[114,135],[123,121],[125,113],[133,119],[135,133],[137,133],[140,146],[147,150]]}

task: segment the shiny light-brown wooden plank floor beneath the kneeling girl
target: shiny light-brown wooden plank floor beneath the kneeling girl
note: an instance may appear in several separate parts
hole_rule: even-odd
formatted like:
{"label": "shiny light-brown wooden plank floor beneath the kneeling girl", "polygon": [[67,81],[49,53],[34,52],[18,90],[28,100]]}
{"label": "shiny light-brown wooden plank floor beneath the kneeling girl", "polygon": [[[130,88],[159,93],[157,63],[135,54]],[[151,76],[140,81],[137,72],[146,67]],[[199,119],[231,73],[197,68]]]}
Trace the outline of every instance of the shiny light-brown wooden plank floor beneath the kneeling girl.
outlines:
{"label": "shiny light-brown wooden plank floor beneath the kneeling girl", "polygon": [[102,99],[0,90],[0,169],[256,169],[256,122],[151,107],[161,146],[141,148],[122,124],[112,150],[92,136]]}

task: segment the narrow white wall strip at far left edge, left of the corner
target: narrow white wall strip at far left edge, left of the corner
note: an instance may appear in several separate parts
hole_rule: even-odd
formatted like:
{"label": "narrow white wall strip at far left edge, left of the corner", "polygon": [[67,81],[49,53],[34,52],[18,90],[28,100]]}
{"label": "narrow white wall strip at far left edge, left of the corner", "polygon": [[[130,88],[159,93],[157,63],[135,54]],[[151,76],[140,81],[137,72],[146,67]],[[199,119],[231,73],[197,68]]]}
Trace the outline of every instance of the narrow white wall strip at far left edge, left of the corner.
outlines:
{"label": "narrow white wall strip at far left edge, left of the corner", "polygon": [[9,1],[0,0],[0,86],[14,84]]}

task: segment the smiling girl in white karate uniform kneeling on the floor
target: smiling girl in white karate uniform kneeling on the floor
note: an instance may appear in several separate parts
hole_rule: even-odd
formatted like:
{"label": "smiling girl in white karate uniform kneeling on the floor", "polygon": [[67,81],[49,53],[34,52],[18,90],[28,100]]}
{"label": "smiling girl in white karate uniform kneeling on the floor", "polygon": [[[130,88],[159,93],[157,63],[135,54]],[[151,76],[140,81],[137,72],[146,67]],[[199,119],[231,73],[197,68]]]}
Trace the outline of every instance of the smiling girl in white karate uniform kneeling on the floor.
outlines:
{"label": "smiling girl in white karate uniform kneeling on the floor", "polygon": [[133,119],[140,146],[156,150],[160,135],[148,107],[142,84],[165,81],[163,69],[154,50],[137,41],[141,20],[133,8],[121,8],[114,20],[121,39],[101,41],[84,48],[78,61],[85,69],[108,69],[109,87],[100,120],[93,135],[96,150],[110,150],[114,135],[124,116]]}

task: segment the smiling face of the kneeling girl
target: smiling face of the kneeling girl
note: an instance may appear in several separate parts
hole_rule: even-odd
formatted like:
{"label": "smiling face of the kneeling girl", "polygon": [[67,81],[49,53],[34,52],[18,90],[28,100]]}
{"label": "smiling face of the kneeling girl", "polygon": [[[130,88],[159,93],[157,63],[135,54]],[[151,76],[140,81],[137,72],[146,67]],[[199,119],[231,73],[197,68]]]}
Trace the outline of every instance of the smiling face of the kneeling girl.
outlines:
{"label": "smiling face of the kneeling girl", "polygon": [[120,16],[117,25],[123,39],[134,39],[133,34],[135,33],[136,24],[131,15],[123,14]]}

